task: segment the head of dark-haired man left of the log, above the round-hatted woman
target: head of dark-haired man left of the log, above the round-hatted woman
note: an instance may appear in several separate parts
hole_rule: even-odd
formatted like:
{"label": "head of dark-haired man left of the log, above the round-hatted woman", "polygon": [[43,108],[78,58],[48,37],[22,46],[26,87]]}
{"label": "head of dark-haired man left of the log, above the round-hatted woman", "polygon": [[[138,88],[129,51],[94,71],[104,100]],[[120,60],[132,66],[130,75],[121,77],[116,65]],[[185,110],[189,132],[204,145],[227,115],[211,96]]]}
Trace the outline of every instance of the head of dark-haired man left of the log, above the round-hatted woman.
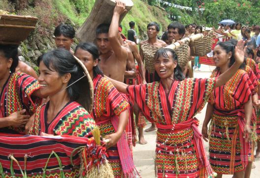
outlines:
{"label": "head of dark-haired man left of the log, above the round-hatted woman", "polygon": [[65,48],[72,55],[74,52],[71,50],[71,45],[74,42],[75,30],[69,24],[60,24],[54,30],[55,43],[57,48]]}

